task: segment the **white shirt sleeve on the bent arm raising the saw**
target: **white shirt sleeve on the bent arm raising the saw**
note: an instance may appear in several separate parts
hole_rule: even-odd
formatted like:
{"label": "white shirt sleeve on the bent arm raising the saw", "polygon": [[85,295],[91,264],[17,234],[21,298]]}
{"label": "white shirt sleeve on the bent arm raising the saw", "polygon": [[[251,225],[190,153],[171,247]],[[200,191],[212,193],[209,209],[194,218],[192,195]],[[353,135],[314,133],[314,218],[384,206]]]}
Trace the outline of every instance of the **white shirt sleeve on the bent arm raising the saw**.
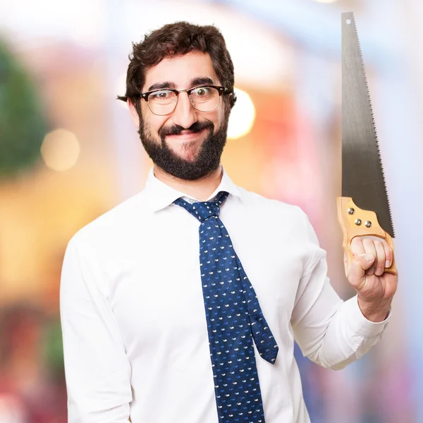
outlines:
{"label": "white shirt sleeve on the bent arm raising the saw", "polygon": [[343,369],[381,338],[391,316],[374,323],[358,306],[357,295],[343,301],[327,277],[326,252],[307,216],[309,260],[300,280],[291,324],[302,354],[323,367]]}

